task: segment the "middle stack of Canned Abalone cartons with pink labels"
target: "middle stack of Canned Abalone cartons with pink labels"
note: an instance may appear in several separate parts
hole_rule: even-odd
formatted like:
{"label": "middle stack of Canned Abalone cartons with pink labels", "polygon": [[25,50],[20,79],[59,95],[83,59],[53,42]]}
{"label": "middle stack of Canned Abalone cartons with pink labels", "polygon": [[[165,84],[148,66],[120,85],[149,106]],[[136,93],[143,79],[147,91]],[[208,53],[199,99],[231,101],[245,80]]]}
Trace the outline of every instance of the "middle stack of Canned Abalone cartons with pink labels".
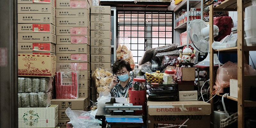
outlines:
{"label": "middle stack of Canned Abalone cartons with pink labels", "polygon": [[[91,68],[89,3],[87,0],[56,1],[57,65],[77,63],[77,68],[80,67],[79,98],[90,97],[90,77],[85,78],[85,75],[90,74]],[[57,70],[58,68],[57,66]]]}

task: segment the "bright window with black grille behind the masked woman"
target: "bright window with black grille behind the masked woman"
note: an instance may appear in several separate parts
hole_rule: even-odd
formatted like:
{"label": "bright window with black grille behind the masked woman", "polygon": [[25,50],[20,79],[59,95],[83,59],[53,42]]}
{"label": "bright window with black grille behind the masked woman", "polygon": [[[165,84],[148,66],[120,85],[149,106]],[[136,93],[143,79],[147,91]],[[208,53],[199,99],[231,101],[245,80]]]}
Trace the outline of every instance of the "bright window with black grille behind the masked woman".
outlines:
{"label": "bright window with black grille behind the masked woman", "polygon": [[126,44],[135,64],[145,50],[172,44],[172,11],[117,11],[118,43]]}

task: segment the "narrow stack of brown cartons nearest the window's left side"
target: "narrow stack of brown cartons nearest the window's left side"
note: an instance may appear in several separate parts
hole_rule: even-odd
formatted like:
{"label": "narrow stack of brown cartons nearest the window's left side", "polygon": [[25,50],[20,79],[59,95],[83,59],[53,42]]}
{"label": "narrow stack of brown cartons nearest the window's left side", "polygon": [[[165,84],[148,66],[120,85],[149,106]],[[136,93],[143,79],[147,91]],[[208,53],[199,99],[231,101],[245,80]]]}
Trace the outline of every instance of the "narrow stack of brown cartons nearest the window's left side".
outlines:
{"label": "narrow stack of brown cartons nearest the window's left side", "polygon": [[[91,10],[91,70],[111,68],[111,9],[110,6],[92,6]],[[92,85],[92,101],[96,101]]]}

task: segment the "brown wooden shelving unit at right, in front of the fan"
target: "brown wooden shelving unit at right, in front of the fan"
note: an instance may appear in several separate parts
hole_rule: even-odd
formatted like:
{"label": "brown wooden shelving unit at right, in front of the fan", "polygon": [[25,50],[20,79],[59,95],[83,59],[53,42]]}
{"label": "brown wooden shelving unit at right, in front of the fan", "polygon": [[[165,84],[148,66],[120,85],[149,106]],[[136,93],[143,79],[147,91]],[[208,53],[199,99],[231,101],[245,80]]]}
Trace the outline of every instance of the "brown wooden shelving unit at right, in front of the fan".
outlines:
{"label": "brown wooden shelving unit at right, in front of the fan", "polygon": [[[256,107],[255,101],[244,100],[245,97],[245,79],[248,76],[244,75],[244,64],[249,63],[249,51],[256,51],[256,46],[244,46],[244,8],[250,6],[251,0],[225,0],[221,4],[213,7],[210,5],[210,74],[214,74],[213,69],[213,53],[217,53],[218,50],[212,49],[213,43],[213,12],[214,11],[237,11],[237,47],[220,49],[220,52],[225,53],[237,53],[237,81],[238,81],[238,98],[227,96],[228,99],[237,101],[237,113],[238,113],[238,128],[244,128],[244,108]],[[255,77],[256,76],[251,76]],[[210,94],[212,97],[212,89],[214,85],[214,75],[210,75]],[[219,95],[219,94],[217,94]],[[219,95],[221,96],[221,95]],[[225,96],[226,97],[226,96]],[[213,100],[210,101],[213,111]]]}

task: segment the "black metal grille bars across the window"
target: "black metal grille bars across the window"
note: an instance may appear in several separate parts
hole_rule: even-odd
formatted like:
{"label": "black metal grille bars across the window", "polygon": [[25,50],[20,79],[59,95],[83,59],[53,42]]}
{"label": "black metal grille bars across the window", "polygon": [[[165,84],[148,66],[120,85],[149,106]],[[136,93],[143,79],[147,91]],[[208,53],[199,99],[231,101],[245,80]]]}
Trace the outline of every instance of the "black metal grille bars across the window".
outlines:
{"label": "black metal grille bars across the window", "polygon": [[[151,13],[151,18],[147,18],[146,15],[150,14]],[[159,18],[160,14],[165,14],[165,18]],[[172,14],[172,18],[166,18],[166,14]],[[124,19],[124,22],[118,22],[118,20],[120,19],[118,17],[118,14],[124,14],[124,17],[122,17],[122,19]],[[130,22],[125,22],[125,14],[131,14],[131,16],[129,17],[131,19]],[[136,18],[132,18],[132,14],[138,14]],[[143,18],[139,18],[139,14],[144,14],[144,17]],[[158,14],[158,18],[153,18],[153,14]],[[141,57],[142,55],[139,55],[139,51],[146,51],[150,48],[152,48],[152,38],[158,38],[158,46],[159,45],[162,45],[162,44],[159,44],[159,39],[160,38],[164,38],[165,39],[165,43],[164,45],[167,45],[167,44],[173,44],[173,15],[174,15],[174,12],[173,11],[148,11],[148,10],[136,10],[136,11],[133,11],[133,10],[116,10],[116,36],[117,37],[122,37],[122,36],[119,36],[119,31],[123,31],[125,32],[125,29],[124,30],[119,30],[119,27],[120,26],[130,26],[131,29],[130,29],[130,32],[131,32],[131,36],[128,37],[131,39],[132,41],[132,38],[137,38],[137,56],[133,56],[133,57],[137,57],[137,62],[135,62],[135,64],[137,64],[139,62],[139,57]],[[137,22],[132,22],[132,19],[138,19]],[[144,19],[144,22],[139,22],[139,19]],[[146,22],[147,19],[150,19],[151,22]],[[158,20],[158,23],[157,22],[152,22],[153,19],[157,19]],[[160,22],[159,19],[165,19],[164,22]],[[172,22],[167,22],[166,23],[166,19],[172,19]],[[132,26],[137,26],[137,30],[134,30],[134,31],[144,31],[144,37],[139,37],[139,35],[137,35],[137,37],[132,37]],[[139,30],[139,26],[144,26],[144,30]],[[152,27],[153,26],[158,26],[158,31],[152,31]],[[159,31],[159,27],[160,26],[165,26],[165,31]],[[166,27],[172,27],[172,30],[171,31],[167,31],[166,30]],[[153,32],[158,32],[158,37],[152,37],[152,33]],[[165,37],[159,37],[159,32],[165,32]],[[172,33],[172,37],[166,37],[166,32],[171,32]],[[124,36],[124,35],[123,35]],[[124,37],[125,38],[125,37]],[[139,43],[139,38],[144,38],[144,50],[139,50],[139,44],[143,44],[143,43]],[[172,39],[172,43],[167,43],[166,42],[166,39],[167,38],[170,38]],[[119,42],[118,42],[119,43]],[[132,50],[132,42],[130,42],[130,48]],[[134,50],[132,50],[134,51]]]}

